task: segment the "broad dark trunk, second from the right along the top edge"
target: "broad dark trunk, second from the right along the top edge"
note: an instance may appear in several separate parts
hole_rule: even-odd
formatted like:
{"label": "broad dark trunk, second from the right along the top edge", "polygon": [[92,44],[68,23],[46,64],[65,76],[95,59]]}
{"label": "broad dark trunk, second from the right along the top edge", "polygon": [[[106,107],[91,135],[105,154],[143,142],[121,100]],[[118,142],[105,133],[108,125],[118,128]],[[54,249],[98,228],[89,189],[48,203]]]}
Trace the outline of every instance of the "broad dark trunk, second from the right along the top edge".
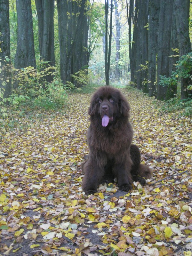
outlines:
{"label": "broad dark trunk, second from the right along the top edge", "polygon": [[169,76],[173,0],[161,1],[159,12],[159,36],[157,52],[157,99],[165,100],[167,86],[159,84],[160,75]]}

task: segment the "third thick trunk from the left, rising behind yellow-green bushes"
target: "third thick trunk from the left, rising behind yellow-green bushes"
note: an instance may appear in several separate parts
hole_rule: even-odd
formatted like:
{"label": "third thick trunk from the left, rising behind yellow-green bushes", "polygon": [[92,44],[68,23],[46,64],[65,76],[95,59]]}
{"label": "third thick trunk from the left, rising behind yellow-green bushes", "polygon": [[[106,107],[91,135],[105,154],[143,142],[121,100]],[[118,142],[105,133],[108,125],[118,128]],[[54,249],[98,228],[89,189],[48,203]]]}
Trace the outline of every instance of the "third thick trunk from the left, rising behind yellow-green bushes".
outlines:
{"label": "third thick trunk from the left, rising behind yellow-green bushes", "polygon": [[[40,59],[48,61],[50,66],[55,66],[54,53],[54,0],[35,0],[38,26],[39,26],[39,52]],[[47,82],[52,82],[52,75],[45,77]]]}

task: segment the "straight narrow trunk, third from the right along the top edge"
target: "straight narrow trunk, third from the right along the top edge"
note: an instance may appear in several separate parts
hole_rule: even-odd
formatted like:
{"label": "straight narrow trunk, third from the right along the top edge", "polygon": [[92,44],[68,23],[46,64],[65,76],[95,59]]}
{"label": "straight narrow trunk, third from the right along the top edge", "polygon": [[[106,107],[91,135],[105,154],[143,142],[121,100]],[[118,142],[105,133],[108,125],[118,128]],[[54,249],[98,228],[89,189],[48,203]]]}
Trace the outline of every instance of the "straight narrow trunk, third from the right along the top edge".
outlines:
{"label": "straight narrow trunk, third from the right along the top edge", "polygon": [[158,39],[159,0],[149,2],[149,27],[148,27],[148,94],[155,95],[156,83],[156,53]]}

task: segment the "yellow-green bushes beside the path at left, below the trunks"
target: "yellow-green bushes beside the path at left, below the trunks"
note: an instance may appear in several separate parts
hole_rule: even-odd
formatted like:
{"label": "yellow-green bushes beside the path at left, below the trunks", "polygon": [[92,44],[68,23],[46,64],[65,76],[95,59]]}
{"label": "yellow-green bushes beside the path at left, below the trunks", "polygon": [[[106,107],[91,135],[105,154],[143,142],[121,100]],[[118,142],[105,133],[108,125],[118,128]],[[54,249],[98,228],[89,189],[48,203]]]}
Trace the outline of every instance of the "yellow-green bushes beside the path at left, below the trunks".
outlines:
{"label": "yellow-green bushes beside the path at left, below the trunks", "polygon": [[[57,110],[66,108],[68,104],[67,85],[53,78],[52,83],[46,82],[47,75],[55,75],[55,68],[46,62],[39,64],[40,71],[33,67],[17,70],[11,65],[12,85],[16,87],[12,95],[4,98],[4,88],[0,88],[0,130],[6,132],[15,125],[16,113],[20,116],[28,115],[34,109]],[[2,69],[0,68],[0,73]],[[1,81],[5,87],[6,81]]]}

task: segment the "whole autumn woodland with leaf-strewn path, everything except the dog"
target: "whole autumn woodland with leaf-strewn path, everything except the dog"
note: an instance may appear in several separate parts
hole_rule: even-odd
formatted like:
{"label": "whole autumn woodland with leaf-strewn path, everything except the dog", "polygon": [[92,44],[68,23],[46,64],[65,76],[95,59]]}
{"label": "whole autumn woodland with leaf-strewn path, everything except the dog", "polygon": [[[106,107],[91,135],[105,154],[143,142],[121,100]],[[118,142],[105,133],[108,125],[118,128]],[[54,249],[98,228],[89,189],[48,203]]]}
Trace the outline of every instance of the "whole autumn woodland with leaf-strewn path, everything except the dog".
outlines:
{"label": "whole autumn woodland with leaf-strewn path, everything except the dog", "polygon": [[[0,0],[0,256],[188,253],[191,31],[191,0]],[[86,196],[87,110],[105,84],[154,174]]]}

